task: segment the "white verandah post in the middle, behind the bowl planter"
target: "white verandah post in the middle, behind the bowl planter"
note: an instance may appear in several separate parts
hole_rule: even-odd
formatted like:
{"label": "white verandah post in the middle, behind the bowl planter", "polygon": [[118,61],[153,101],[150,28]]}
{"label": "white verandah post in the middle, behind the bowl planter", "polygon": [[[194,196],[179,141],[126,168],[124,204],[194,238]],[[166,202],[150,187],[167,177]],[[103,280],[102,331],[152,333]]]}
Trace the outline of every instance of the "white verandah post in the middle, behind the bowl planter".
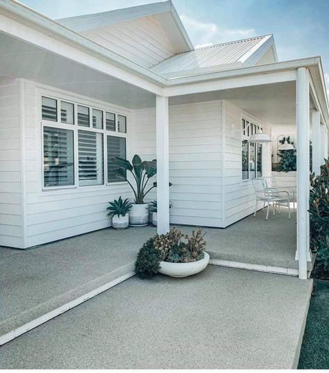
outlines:
{"label": "white verandah post in the middle, behind the bowl planter", "polygon": [[169,103],[168,97],[156,97],[156,158],[158,233],[169,231]]}

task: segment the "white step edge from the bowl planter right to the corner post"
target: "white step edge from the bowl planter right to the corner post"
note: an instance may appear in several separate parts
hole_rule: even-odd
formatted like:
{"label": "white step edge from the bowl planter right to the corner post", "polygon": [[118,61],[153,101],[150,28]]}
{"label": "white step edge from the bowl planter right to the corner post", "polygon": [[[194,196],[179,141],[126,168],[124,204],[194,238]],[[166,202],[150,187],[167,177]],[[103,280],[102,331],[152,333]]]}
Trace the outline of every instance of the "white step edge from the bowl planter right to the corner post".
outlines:
{"label": "white step edge from the bowl planter right to the corner post", "polygon": [[273,267],[271,265],[234,262],[231,260],[221,259],[210,259],[209,263],[211,265],[219,265],[221,267],[239,268],[240,270],[251,270],[275,274],[286,274],[288,276],[298,276],[298,270],[296,270],[296,268]]}

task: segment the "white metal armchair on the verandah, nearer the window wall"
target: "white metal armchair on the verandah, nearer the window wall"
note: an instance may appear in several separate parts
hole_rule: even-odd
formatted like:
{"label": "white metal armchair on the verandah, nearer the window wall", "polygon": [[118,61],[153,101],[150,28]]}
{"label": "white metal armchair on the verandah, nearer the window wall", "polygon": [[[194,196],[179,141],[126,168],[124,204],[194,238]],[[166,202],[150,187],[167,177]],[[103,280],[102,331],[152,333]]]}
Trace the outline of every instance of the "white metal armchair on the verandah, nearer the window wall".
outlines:
{"label": "white metal armchair on the verandah, nearer the window wall", "polygon": [[274,188],[269,188],[267,181],[264,178],[252,179],[253,188],[255,190],[255,213],[253,216],[256,216],[258,202],[263,202],[263,209],[265,204],[267,204],[267,215],[266,219],[269,219],[269,206],[273,204],[273,215],[276,215],[276,207],[278,206],[287,206],[289,209],[289,219],[290,215],[290,196],[289,193],[285,190],[276,190]]}

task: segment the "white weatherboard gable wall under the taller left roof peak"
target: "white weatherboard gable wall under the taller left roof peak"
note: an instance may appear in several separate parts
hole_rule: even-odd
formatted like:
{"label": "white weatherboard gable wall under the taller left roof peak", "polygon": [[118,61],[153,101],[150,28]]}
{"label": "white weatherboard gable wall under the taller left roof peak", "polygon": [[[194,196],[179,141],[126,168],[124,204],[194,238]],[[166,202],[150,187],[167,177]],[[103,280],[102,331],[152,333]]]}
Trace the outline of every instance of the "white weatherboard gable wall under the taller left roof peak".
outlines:
{"label": "white weatherboard gable wall under the taller left roof peak", "polygon": [[81,31],[81,34],[143,67],[151,67],[175,54],[165,30],[154,17]]}

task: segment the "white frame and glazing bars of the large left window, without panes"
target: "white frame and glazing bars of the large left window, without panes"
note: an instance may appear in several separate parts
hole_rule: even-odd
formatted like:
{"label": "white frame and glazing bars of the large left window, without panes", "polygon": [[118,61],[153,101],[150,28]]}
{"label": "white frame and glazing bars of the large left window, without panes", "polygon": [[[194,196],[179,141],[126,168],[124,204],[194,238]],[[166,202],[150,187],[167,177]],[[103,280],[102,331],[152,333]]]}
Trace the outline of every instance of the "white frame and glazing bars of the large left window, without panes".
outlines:
{"label": "white frame and glazing bars of the large left window, without panes", "polygon": [[[42,97],[47,97],[49,99],[56,99],[57,100],[57,122],[49,121],[42,119]],[[61,101],[65,101],[67,103],[74,104],[74,124],[67,124],[61,122]],[[78,126],[78,105],[86,106],[90,110],[89,116],[89,127],[86,126]],[[103,129],[94,129],[92,126],[92,109],[101,110],[103,112]],[[42,191],[47,190],[62,190],[62,189],[87,189],[87,188],[100,188],[100,187],[107,187],[110,185],[120,185],[126,184],[127,181],[112,181],[108,182],[108,149],[107,149],[107,136],[116,136],[119,138],[126,139],[126,158],[128,159],[128,127],[129,127],[129,115],[128,113],[124,112],[123,110],[117,110],[113,107],[108,107],[106,105],[93,105],[87,100],[83,100],[80,98],[69,97],[66,94],[58,93],[56,95],[53,92],[49,92],[48,90],[40,90],[39,92],[39,105],[38,105],[39,115],[40,115],[40,122],[41,122],[41,163],[42,163]],[[106,112],[115,114],[115,131],[108,131],[106,130]],[[118,115],[122,115],[126,117],[126,133],[118,131]],[[65,129],[74,131],[74,185],[54,185],[54,186],[44,186],[44,126],[51,127],[54,129]],[[79,185],[78,180],[78,130],[81,131],[90,131],[96,133],[103,134],[103,183],[96,184],[96,185]]]}

